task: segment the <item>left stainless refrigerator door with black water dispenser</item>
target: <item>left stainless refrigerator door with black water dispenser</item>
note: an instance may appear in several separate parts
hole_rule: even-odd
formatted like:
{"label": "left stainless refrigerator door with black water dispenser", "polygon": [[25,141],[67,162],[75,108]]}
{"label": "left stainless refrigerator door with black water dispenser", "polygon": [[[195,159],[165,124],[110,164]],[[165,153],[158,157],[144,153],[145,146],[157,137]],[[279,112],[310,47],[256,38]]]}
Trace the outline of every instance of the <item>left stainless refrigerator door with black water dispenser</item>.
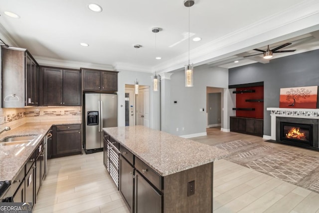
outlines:
{"label": "left stainless refrigerator door with black water dispenser", "polygon": [[[88,125],[88,112],[100,110],[100,94],[86,93],[85,94],[85,149],[98,149],[101,148],[101,134],[100,125],[101,120],[97,125]],[[100,113],[99,113],[100,114]],[[100,117],[100,116],[98,116]],[[90,123],[90,122],[89,122]]]}

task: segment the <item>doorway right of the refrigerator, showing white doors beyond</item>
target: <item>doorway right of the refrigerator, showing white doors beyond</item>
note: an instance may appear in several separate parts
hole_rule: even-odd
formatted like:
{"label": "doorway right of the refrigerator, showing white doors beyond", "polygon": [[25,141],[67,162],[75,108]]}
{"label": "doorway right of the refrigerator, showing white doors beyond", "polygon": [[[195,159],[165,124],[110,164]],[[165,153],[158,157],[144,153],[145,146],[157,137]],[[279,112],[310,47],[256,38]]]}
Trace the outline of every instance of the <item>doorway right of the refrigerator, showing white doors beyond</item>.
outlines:
{"label": "doorway right of the refrigerator, showing white doors beyond", "polygon": [[150,87],[139,86],[135,94],[135,85],[125,85],[125,126],[150,126]]}

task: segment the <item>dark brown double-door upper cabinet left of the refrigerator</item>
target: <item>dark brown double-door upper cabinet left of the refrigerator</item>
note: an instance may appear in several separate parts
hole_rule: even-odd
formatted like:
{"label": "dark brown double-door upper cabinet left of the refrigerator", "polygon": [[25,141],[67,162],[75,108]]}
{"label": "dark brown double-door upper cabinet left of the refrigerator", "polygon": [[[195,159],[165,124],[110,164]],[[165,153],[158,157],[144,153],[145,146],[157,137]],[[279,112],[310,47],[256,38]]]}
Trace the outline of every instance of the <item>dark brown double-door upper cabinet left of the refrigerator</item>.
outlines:
{"label": "dark brown double-door upper cabinet left of the refrigerator", "polygon": [[81,106],[79,70],[41,67],[44,106]]}

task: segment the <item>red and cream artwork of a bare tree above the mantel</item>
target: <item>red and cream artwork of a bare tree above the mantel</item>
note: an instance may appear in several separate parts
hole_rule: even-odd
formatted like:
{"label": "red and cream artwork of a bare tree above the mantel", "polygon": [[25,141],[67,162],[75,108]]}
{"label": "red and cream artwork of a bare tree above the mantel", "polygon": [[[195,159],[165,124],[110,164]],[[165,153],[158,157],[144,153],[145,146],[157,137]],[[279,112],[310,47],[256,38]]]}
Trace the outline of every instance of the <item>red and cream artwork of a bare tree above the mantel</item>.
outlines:
{"label": "red and cream artwork of a bare tree above the mantel", "polygon": [[317,109],[318,86],[280,89],[280,108]]}

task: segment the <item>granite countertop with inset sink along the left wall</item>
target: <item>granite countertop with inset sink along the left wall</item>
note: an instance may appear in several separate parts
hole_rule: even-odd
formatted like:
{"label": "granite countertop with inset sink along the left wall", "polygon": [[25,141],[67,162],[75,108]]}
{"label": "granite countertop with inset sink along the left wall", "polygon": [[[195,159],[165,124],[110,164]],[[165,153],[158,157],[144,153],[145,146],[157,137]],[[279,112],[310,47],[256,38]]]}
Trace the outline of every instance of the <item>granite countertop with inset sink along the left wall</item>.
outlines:
{"label": "granite countertop with inset sink along the left wall", "polygon": [[0,140],[11,136],[37,135],[32,143],[0,146],[0,181],[12,181],[24,169],[31,154],[45,137],[52,125],[80,124],[79,122],[25,123],[15,129],[3,132]]}

